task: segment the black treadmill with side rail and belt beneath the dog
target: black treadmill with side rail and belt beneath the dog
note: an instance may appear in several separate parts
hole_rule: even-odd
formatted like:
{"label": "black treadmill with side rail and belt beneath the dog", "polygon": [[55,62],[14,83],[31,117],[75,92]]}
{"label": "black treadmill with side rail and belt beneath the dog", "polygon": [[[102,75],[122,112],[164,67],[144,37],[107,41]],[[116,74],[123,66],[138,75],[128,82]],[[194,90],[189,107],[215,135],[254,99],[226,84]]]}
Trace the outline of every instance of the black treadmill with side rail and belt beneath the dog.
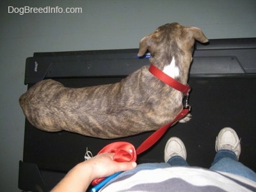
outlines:
{"label": "black treadmill with side rail and belt beneath the dog", "polygon": [[[116,83],[143,65],[138,49],[35,52],[26,60],[24,83],[28,88],[43,79],[54,79],[79,88]],[[256,38],[212,39],[195,44],[189,95],[192,119],[175,124],[138,163],[164,162],[164,146],[172,137],[185,144],[191,166],[209,168],[216,154],[215,140],[223,127],[232,127],[241,137],[239,161],[256,172]],[[137,148],[152,132],[120,139],[99,139],[74,132],[45,132],[25,123],[24,154],[19,162],[19,189],[51,190],[77,163],[86,150],[93,156],[115,141]]]}

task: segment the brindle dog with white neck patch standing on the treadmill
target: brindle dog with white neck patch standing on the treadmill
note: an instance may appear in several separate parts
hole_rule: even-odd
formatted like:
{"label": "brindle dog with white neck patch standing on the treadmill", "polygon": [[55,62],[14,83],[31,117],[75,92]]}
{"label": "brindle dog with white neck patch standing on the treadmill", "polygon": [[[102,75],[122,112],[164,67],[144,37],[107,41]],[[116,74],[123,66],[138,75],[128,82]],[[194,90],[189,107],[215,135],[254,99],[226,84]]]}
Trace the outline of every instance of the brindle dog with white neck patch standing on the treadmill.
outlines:
{"label": "brindle dog with white neck patch standing on the treadmill", "polygon": [[[142,38],[138,56],[149,51],[151,63],[186,84],[195,40],[208,42],[198,28],[165,24]],[[109,139],[157,130],[182,110],[183,95],[148,68],[141,67],[119,83],[85,88],[67,88],[51,79],[40,81],[20,97],[20,106],[29,122],[44,131]]]}

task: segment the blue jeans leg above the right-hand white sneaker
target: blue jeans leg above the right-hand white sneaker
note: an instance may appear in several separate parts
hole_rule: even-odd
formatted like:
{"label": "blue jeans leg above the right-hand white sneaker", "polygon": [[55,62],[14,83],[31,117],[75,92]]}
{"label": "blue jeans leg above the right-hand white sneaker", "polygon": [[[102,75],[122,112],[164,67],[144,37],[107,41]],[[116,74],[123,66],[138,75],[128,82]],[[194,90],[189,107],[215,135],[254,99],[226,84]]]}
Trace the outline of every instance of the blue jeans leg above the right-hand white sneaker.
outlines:
{"label": "blue jeans leg above the right-hand white sneaker", "polygon": [[244,166],[244,164],[238,162],[236,154],[227,149],[217,152],[210,170],[232,173],[256,181],[256,173]]}

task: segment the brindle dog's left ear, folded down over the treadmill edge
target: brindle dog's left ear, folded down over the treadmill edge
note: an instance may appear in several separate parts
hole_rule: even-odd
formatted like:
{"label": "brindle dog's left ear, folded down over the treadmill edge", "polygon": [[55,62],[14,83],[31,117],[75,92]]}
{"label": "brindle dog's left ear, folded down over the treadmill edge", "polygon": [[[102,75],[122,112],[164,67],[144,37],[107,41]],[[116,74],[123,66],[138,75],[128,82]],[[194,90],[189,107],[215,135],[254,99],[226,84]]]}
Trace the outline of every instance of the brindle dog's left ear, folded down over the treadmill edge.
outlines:
{"label": "brindle dog's left ear, folded down over the treadmill edge", "polygon": [[140,40],[140,48],[137,56],[141,57],[145,54],[145,52],[147,52],[147,50],[150,51],[150,49],[155,44],[155,39],[156,39],[156,36],[154,35],[154,33],[150,33],[149,35],[143,37]]}

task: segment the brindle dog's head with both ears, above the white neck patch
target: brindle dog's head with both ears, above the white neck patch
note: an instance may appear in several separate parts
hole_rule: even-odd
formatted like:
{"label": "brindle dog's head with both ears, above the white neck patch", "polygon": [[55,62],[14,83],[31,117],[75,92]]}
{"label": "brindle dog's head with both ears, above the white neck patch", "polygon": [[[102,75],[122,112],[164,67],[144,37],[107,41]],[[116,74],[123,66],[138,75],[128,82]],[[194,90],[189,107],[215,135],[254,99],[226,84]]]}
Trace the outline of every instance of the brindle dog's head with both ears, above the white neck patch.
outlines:
{"label": "brindle dog's head with both ears, above the white neck patch", "polygon": [[165,24],[141,39],[138,56],[143,56],[149,51],[152,56],[150,62],[161,69],[165,65],[170,65],[173,57],[177,65],[189,67],[195,40],[202,43],[208,42],[199,28],[184,27],[177,22]]}

